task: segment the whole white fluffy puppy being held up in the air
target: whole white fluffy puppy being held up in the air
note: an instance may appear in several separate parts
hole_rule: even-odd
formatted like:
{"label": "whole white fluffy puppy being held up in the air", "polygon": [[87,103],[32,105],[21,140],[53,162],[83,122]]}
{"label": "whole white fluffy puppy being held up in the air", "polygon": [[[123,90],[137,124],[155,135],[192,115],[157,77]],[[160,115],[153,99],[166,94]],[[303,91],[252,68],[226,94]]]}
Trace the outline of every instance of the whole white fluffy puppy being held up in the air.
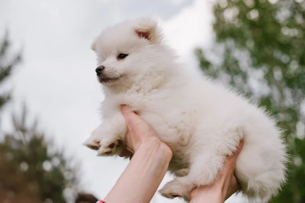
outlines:
{"label": "whole white fluffy puppy being held up in the air", "polygon": [[[241,138],[235,176],[254,202],[277,194],[285,182],[286,147],[281,130],[262,108],[219,82],[194,78],[162,42],[156,21],[138,19],[107,28],[92,45],[103,85],[103,123],[84,143],[100,156],[118,154],[127,132],[120,104],[150,123],[173,152],[176,178],[161,194],[189,201],[210,184]],[[199,73],[198,73],[199,74]]]}

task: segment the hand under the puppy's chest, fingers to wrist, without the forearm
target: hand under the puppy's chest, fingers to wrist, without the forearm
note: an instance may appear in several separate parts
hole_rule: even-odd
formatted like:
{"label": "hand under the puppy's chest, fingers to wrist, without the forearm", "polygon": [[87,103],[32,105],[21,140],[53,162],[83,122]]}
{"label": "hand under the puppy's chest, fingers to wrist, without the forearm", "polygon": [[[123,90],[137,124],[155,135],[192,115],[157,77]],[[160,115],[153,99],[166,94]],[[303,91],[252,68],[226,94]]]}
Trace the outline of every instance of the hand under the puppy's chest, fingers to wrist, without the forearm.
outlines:
{"label": "hand under the puppy's chest, fingers to wrist, without the forearm", "polygon": [[121,105],[120,109],[126,120],[128,132],[125,136],[126,149],[123,149],[119,156],[131,157],[140,145],[147,142],[165,145],[159,140],[155,130],[145,120],[135,114],[131,107]]}

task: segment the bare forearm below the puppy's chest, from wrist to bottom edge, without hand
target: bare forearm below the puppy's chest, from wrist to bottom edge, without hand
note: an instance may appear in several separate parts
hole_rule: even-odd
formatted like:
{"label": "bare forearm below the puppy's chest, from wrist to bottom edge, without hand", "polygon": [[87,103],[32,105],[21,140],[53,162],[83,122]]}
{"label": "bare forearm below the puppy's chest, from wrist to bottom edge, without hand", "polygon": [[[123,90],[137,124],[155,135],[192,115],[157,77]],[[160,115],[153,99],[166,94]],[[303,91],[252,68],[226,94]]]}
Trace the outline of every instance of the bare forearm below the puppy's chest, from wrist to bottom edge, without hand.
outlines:
{"label": "bare forearm below the puppy's chest, from wrist to bottom edge, without hand", "polygon": [[164,178],[171,157],[164,143],[157,140],[143,143],[104,201],[148,203]]}

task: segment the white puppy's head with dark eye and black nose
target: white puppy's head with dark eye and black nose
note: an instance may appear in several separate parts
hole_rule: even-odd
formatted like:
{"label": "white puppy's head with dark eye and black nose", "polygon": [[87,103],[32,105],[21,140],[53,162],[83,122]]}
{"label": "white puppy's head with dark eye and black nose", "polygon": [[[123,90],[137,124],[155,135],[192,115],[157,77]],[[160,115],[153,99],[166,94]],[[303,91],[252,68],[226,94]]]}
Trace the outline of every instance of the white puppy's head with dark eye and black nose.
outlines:
{"label": "white puppy's head with dark eye and black nose", "polygon": [[[105,29],[92,44],[98,56],[96,74],[106,86],[127,85],[156,74],[164,52],[157,22],[143,18]],[[93,70],[94,71],[94,70]]]}

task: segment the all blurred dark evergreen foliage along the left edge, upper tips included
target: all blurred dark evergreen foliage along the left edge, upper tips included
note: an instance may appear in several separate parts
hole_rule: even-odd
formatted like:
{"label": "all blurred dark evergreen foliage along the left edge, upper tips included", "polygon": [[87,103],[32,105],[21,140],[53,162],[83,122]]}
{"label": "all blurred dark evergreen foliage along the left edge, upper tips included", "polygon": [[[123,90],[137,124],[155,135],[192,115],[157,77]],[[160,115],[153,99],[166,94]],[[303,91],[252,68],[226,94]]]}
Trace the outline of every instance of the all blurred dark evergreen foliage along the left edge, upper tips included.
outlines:
{"label": "all blurred dark evergreen foliage along the left edge, upper tips included", "polygon": [[[17,54],[8,60],[10,43],[0,47],[0,85],[20,62]],[[10,100],[10,92],[0,95],[0,109]],[[0,115],[1,116],[1,115]],[[0,139],[0,202],[72,202],[78,186],[77,169],[70,159],[29,124],[26,107],[12,116],[13,129]]]}

